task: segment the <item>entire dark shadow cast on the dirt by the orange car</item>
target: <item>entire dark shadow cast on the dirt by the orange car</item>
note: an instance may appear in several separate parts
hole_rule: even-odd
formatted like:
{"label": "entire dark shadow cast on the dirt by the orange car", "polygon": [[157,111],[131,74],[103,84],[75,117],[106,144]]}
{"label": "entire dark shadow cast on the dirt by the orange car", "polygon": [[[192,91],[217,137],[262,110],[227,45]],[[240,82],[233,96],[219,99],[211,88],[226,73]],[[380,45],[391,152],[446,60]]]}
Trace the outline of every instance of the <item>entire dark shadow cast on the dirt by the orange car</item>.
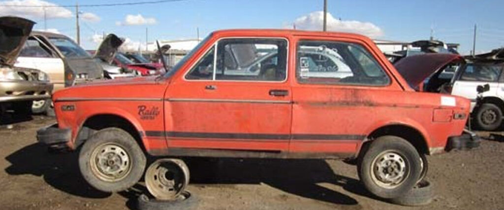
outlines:
{"label": "entire dark shadow cast on the dirt by the orange car", "polygon": [[[66,193],[87,198],[105,198],[111,193],[91,187],[80,174],[78,153],[48,153],[44,145],[32,144],[6,157],[11,163],[5,171],[10,175],[30,174],[43,177],[52,187]],[[319,183],[331,183],[344,190],[377,199],[356,179],[335,174],[324,160],[281,159],[203,159],[187,160],[191,170],[191,184],[260,184],[297,196],[340,205],[358,205],[358,201],[344,193],[326,188]],[[135,208],[137,197],[147,192],[137,184],[119,194]]]}

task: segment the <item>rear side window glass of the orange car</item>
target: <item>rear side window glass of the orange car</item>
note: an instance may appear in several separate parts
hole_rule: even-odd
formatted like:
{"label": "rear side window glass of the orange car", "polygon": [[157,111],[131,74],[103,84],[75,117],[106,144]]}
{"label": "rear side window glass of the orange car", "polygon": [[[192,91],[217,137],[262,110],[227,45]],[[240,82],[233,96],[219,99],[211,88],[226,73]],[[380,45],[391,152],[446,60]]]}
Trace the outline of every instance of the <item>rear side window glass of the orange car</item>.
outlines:
{"label": "rear side window glass of the orange car", "polygon": [[300,41],[296,77],[300,83],[383,86],[383,68],[361,45],[334,41]]}

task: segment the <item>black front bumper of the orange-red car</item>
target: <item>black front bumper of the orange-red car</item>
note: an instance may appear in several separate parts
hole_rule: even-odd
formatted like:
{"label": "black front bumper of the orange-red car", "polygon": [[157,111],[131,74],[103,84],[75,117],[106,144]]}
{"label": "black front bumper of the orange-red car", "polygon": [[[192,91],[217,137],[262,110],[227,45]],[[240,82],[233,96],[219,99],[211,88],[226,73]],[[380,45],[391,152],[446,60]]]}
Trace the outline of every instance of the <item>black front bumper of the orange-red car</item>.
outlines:
{"label": "black front bumper of the orange-red car", "polygon": [[70,128],[59,128],[57,123],[37,130],[37,141],[47,145],[52,150],[68,149],[67,144],[72,138]]}

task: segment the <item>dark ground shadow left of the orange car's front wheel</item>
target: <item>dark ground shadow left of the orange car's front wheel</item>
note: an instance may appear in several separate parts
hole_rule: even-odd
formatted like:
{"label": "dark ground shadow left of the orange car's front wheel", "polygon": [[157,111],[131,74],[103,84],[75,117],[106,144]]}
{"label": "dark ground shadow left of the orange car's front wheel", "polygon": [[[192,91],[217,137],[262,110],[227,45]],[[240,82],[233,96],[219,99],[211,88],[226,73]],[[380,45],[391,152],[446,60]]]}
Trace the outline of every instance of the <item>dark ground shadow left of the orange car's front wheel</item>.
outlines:
{"label": "dark ground shadow left of the orange car's front wheel", "polygon": [[43,177],[52,187],[82,197],[103,198],[111,193],[91,187],[79,171],[78,153],[48,153],[41,144],[26,146],[6,157],[11,163],[5,171],[10,175],[30,174]]}

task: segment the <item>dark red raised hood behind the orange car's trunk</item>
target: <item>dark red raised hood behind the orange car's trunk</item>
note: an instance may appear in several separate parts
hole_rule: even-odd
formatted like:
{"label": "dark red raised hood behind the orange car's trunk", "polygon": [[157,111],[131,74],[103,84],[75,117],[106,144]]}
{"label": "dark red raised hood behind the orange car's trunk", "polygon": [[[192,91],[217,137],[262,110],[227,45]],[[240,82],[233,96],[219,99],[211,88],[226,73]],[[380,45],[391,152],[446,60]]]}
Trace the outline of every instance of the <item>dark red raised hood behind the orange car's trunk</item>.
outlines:
{"label": "dark red raised hood behind the orange car's trunk", "polygon": [[462,60],[458,54],[427,53],[402,58],[394,66],[406,82],[415,88],[439,68],[458,60]]}

